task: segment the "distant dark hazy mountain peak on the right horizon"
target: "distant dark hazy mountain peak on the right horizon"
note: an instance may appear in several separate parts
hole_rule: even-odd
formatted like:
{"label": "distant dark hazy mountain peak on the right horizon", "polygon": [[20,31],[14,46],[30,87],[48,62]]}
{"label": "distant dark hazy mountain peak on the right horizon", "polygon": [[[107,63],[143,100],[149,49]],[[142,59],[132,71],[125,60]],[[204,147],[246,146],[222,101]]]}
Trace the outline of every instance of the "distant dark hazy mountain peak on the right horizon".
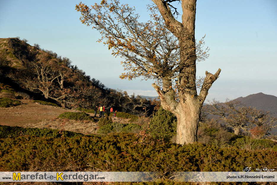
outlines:
{"label": "distant dark hazy mountain peak on the right horizon", "polygon": [[235,100],[241,101],[241,103],[244,103],[246,106],[256,107],[257,109],[261,109],[263,111],[270,111],[272,116],[277,117],[276,96],[257,93],[246,97],[239,97]]}

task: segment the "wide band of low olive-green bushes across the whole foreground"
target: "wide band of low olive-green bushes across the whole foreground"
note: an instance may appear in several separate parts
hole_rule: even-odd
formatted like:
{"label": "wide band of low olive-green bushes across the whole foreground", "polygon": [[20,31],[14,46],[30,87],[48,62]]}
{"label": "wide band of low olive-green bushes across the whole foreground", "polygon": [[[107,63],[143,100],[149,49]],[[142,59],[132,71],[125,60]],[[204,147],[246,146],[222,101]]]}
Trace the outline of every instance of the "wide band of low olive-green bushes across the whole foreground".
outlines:
{"label": "wide band of low olive-green bushes across the whole foreground", "polygon": [[0,139],[1,171],[242,171],[276,168],[277,152],[211,145],[177,145],[144,134]]}

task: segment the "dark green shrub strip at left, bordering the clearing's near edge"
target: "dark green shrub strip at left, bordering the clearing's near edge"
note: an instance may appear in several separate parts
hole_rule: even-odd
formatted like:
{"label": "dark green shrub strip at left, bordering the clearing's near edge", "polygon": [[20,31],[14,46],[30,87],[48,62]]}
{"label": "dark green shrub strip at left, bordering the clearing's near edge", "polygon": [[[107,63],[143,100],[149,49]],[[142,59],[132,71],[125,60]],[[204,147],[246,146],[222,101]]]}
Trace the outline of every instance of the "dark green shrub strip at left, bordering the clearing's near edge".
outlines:
{"label": "dark green shrub strip at left, bordering the clearing's near edge", "polygon": [[12,137],[16,138],[19,136],[35,136],[35,137],[51,137],[59,138],[63,137],[75,137],[78,135],[83,135],[81,133],[75,133],[71,131],[63,131],[57,129],[39,129],[39,128],[23,128],[23,127],[10,127],[6,125],[0,125],[0,138]]}

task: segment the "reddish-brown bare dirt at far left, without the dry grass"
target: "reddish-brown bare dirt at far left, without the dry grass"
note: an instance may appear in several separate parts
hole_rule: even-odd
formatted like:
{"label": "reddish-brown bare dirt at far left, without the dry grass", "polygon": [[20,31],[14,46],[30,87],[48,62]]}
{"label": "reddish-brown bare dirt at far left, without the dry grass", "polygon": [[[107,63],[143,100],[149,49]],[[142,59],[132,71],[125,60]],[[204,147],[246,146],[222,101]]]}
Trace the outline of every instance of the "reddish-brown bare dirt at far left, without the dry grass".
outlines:
{"label": "reddish-brown bare dirt at far left, without the dry grass", "polygon": [[30,101],[19,100],[23,104],[14,107],[0,107],[0,125],[24,127],[28,124],[39,123],[57,118],[64,112],[78,112],[50,105],[36,104]]}

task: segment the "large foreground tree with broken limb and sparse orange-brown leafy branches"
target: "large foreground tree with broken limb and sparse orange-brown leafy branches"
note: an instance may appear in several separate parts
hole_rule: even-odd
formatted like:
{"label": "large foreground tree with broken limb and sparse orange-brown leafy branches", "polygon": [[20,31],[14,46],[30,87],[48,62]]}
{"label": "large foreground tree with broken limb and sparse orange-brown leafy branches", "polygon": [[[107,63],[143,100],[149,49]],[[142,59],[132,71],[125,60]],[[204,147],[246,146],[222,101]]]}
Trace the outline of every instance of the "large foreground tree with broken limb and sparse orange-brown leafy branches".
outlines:
{"label": "large foreground tree with broken limb and sparse orange-brown leafy branches", "polygon": [[93,25],[102,34],[99,42],[105,41],[113,55],[125,59],[121,63],[128,72],[122,79],[156,79],[152,86],[161,105],[177,117],[176,142],[192,143],[197,141],[201,107],[221,70],[215,74],[206,71],[198,95],[196,61],[208,55],[201,50],[202,40],[199,44],[195,40],[196,0],[181,1],[182,23],[174,18],[178,12],[171,3],[177,0],[152,1],[156,6],[148,6],[151,20],[146,23],[140,23],[135,8],[121,5],[119,0],[102,0],[91,8],[80,2],[76,10],[81,12],[82,23]]}

